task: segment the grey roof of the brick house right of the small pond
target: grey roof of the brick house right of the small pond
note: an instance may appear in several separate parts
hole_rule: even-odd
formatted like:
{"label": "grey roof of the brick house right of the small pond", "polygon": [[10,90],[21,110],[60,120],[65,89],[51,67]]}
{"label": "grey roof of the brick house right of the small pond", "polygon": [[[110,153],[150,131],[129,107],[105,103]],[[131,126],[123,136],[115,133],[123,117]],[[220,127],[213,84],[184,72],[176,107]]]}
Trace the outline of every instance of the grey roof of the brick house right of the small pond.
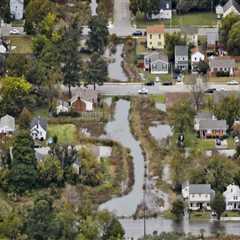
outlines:
{"label": "grey roof of the brick house right of the small pond", "polygon": [[227,130],[226,120],[204,119],[199,122],[199,130]]}

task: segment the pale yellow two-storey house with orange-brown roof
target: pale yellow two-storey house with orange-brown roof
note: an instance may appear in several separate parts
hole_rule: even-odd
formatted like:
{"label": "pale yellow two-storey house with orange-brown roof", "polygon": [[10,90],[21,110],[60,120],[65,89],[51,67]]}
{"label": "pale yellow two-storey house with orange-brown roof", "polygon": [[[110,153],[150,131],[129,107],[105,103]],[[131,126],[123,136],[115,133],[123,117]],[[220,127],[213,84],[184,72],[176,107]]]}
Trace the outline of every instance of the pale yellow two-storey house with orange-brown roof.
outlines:
{"label": "pale yellow two-storey house with orange-brown roof", "polygon": [[153,25],[146,29],[147,48],[164,49],[165,47],[165,27],[164,25]]}

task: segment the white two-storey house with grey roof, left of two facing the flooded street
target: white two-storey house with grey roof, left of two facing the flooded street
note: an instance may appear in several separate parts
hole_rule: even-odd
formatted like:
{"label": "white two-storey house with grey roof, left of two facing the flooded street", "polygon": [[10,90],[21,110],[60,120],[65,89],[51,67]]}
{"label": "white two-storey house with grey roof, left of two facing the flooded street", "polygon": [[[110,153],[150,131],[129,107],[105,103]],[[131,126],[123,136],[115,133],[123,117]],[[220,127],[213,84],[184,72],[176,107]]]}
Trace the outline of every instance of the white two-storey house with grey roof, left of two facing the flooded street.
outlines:
{"label": "white two-storey house with grey roof, left of two facing the flooded street", "polygon": [[210,202],[214,195],[210,184],[187,184],[182,188],[182,196],[193,211],[211,210]]}

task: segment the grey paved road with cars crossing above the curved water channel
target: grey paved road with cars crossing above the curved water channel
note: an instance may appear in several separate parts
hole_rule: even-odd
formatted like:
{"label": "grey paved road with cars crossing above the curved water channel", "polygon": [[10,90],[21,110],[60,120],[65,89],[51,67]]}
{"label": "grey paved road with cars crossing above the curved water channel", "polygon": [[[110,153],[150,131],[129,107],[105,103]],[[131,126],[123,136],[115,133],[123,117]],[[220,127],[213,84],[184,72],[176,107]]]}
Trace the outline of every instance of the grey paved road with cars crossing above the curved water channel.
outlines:
{"label": "grey paved road with cars crossing above the curved water channel", "polygon": [[[138,94],[138,90],[142,87],[141,83],[108,83],[103,86],[98,86],[97,91],[102,95],[107,96],[134,96]],[[149,94],[161,95],[167,92],[190,92],[191,86],[189,85],[173,85],[162,86],[155,84],[155,86],[145,86]],[[92,87],[89,87],[92,88]],[[209,84],[208,88],[216,88],[217,90],[224,89],[225,91],[240,91],[240,86],[229,86],[219,84]],[[76,93],[78,88],[73,89],[73,93]]]}

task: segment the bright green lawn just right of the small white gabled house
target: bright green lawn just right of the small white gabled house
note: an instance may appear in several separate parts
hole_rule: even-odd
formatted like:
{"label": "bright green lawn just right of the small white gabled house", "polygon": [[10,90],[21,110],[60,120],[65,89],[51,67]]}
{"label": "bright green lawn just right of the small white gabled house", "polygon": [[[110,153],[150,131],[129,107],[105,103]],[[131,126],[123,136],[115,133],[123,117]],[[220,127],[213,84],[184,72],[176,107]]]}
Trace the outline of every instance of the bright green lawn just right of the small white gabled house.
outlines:
{"label": "bright green lawn just right of the small white gabled house", "polygon": [[48,136],[58,137],[60,144],[74,144],[77,142],[77,128],[73,124],[50,124],[48,126]]}

